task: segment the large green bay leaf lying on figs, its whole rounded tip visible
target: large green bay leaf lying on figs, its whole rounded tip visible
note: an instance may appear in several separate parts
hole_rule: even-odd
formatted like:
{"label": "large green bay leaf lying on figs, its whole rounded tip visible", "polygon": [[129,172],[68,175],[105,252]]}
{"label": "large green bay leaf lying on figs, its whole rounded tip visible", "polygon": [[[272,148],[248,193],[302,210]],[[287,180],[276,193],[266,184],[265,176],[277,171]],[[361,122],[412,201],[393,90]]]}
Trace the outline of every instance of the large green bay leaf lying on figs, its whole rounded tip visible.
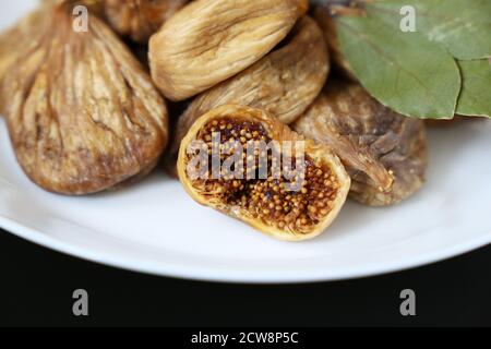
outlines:
{"label": "large green bay leaf lying on figs, its whole rounded tip visible", "polygon": [[453,118],[462,86],[453,57],[420,33],[403,33],[399,21],[368,10],[367,16],[336,19],[340,48],[362,85],[405,116]]}

